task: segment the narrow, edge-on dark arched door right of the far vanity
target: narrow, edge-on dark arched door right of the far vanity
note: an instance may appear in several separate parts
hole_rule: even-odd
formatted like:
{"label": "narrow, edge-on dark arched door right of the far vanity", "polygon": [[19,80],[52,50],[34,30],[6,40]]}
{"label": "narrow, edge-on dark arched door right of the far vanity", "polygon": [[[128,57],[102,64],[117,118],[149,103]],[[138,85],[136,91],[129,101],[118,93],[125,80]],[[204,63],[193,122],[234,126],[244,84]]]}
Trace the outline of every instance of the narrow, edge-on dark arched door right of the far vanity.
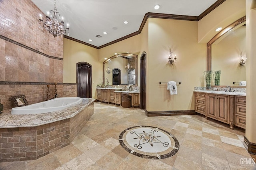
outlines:
{"label": "narrow, edge-on dark arched door right of the far vanity", "polygon": [[146,109],[146,53],[140,58],[140,109]]}

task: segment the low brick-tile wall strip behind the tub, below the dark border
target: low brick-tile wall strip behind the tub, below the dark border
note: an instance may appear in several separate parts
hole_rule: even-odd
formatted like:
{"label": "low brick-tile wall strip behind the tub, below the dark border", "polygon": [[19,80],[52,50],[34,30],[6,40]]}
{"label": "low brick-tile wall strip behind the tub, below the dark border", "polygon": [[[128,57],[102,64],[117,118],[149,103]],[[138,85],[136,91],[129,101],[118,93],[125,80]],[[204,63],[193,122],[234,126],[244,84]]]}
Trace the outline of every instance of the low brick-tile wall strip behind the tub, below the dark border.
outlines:
{"label": "low brick-tile wall strip behind the tub, below the dark border", "polygon": [[[50,98],[54,97],[54,83],[50,85]],[[0,82],[0,102],[4,105],[4,110],[15,107],[12,96],[24,94],[28,104],[43,102],[47,99],[46,84],[1,84]],[[58,97],[76,97],[76,84],[57,84]]]}

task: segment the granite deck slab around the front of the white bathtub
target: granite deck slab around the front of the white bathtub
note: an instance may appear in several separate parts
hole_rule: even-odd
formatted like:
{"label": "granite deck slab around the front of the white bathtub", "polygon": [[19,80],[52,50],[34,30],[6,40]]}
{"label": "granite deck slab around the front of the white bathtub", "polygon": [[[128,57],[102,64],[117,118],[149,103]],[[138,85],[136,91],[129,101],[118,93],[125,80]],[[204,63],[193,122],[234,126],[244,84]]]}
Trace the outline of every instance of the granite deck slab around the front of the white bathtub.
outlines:
{"label": "granite deck slab around the front of the white bathtub", "polygon": [[63,110],[53,111],[41,114],[28,115],[12,115],[11,109],[0,114],[0,128],[15,128],[15,127],[36,127],[64,119],[74,117],[84,107],[90,105],[95,99],[82,98],[82,103],[68,107]]}

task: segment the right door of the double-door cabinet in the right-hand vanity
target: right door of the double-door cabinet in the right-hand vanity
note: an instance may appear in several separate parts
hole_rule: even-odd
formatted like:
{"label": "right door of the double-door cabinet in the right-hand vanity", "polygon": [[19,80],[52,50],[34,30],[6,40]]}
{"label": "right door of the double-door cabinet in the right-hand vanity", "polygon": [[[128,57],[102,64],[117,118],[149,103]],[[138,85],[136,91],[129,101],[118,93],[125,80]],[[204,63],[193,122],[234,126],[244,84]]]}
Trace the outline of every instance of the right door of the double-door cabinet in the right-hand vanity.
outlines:
{"label": "right door of the double-door cabinet in the right-hand vanity", "polygon": [[217,120],[228,122],[228,96],[217,95]]}

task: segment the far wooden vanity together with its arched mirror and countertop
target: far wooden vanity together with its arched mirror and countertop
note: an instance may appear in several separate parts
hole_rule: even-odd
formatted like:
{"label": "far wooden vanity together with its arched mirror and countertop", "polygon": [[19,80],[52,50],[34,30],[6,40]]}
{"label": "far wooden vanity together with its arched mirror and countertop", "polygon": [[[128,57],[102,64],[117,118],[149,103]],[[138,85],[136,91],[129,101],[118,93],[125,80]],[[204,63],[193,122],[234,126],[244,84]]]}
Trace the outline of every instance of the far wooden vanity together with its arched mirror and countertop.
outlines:
{"label": "far wooden vanity together with its arched mirror and countertop", "polygon": [[121,94],[127,94],[131,98],[132,107],[140,106],[140,92],[137,86],[137,55],[121,53],[106,59],[103,62],[101,85],[102,87],[96,88],[98,101],[122,106]]}

